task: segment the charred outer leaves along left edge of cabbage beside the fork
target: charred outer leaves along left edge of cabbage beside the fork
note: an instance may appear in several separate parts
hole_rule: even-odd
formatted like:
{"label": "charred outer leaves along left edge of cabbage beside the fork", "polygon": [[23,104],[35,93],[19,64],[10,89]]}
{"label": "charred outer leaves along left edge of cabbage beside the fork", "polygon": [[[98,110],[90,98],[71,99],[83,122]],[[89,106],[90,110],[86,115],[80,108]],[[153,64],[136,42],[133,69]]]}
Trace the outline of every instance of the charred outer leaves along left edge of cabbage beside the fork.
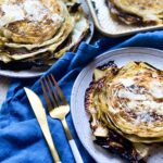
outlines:
{"label": "charred outer leaves along left edge of cabbage beside the fork", "polygon": [[90,115],[95,142],[130,162],[145,162],[149,146],[127,140],[126,135],[118,131],[106,115],[104,84],[111,82],[117,73],[118,68],[113,62],[96,68],[93,80],[86,91],[85,108]]}

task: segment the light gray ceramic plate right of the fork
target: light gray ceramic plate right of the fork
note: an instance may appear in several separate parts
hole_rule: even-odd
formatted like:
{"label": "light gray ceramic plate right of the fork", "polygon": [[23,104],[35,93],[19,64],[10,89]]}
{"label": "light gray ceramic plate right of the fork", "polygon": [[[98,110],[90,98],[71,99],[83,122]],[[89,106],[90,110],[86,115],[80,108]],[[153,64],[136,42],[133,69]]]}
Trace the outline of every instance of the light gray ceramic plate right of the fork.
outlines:
{"label": "light gray ceramic plate right of the fork", "polygon": [[[125,48],[106,52],[86,66],[74,84],[71,99],[71,111],[82,143],[98,163],[122,163],[123,161],[120,158],[110,154],[92,142],[91,130],[88,122],[89,117],[84,106],[85,91],[88,88],[89,83],[92,80],[93,70],[109,61],[115,61],[120,67],[128,61],[143,61],[163,70],[163,51],[148,48]],[[162,155],[163,148],[155,148],[155,150],[152,151],[151,156],[148,159],[148,163],[162,163]]]}

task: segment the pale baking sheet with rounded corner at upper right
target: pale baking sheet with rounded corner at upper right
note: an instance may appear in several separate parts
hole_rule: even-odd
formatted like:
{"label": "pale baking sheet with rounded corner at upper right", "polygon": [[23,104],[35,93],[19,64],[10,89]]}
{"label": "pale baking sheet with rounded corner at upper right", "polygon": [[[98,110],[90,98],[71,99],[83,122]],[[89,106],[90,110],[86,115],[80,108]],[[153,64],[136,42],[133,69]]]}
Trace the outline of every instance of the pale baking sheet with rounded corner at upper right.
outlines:
{"label": "pale baking sheet with rounded corner at upper right", "polygon": [[96,27],[110,37],[127,36],[146,30],[163,29],[163,25],[126,25],[112,18],[105,0],[87,0]]}

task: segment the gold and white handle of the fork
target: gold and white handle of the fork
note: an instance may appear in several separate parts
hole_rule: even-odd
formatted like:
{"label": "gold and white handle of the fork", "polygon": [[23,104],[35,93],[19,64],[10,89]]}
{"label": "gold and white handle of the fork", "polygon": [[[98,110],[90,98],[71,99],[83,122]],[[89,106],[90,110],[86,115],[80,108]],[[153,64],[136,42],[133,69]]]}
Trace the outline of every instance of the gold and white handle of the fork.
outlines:
{"label": "gold and white handle of the fork", "polygon": [[76,146],[76,143],[75,143],[75,141],[73,139],[73,136],[72,136],[72,134],[70,131],[70,128],[68,128],[68,125],[67,125],[65,118],[62,120],[62,124],[63,124],[66,137],[68,139],[68,143],[71,146],[71,149],[72,149],[72,152],[73,152],[73,155],[75,158],[76,163],[84,163],[84,161],[83,161],[83,159],[80,156],[80,153],[79,153],[79,151],[77,149],[77,146]]}

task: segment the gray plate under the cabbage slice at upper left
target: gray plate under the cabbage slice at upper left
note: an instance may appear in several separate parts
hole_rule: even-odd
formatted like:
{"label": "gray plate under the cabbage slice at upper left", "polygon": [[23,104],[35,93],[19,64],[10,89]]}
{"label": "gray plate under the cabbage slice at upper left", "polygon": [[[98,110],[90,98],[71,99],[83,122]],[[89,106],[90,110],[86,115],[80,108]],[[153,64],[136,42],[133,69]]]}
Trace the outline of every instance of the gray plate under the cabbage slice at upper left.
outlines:
{"label": "gray plate under the cabbage slice at upper left", "polygon": [[[93,26],[93,22],[90,17],[90,14],[89,14],[89,9],[86,4],[86,1],[85,0],[79,0],[79,2],[82,3],[83,5],[83,9],[89,20],[89,23],[90,23],[90,33],[88,34],[87,38],[85,39],[86,42],[90,42],[92,36],[93,36],[93,32],[95,32],[95,26]],[[18,71],[18,72],[15,72],[15,71],[9,71],[9,70],[0,70],[0,75],[1,76],[7,76],[7,77],[14,77],[14,78],[30,78],[30,77],[37,77],[37,76],[40,76],[42,75],[45,72],[47,71],[47,68],[32,68],[29,71]]]}

